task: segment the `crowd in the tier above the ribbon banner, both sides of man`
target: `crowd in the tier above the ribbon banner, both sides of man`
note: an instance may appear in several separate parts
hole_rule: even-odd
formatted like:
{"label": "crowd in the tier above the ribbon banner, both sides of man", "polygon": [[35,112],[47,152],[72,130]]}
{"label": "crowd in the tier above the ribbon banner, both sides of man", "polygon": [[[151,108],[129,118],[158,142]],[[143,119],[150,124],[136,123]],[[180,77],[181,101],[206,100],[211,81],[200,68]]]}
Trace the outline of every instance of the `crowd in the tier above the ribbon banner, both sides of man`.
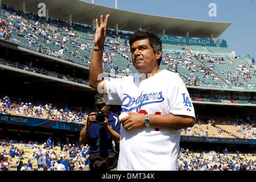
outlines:
{"label": "crowd in the tier above the ribbon banner, both sides of man", "polygon": [[[31,101],[27,99],[20,99],[16,97],[1,96],[0,97],[0,113],[1,114],[11,114],[11,115],[21,115],[23,117],[35,117],[42,119],[50,119],[54,121],[61,122],[73,122],[73,123],[85,123],[87,121],[88,115],[93,111],[93,107],[67,107],[63,104],[50,104],[45,101]],[[113,110],[114,111],[114,110]],[[119,114],[118,110],[114,111]],[[220,121],[218,118],[212,117],[202,117],[197,115],[196,124],[200,125],[212,125],[212,121],[221,123],[221,125],[231,125],[237,128],[237,134],[233,134],[234,138],[244,138],[256,139],[256,126],[255,123],[250,121],[256,121],[256,118],[245,118],[243,116],[234,115],[229,121]],[[186,128],[181,130],[184,134],[190,134],[192,136],[197,136],[200,134],[201,137],[224,137],[223,129],[217,128],[218,134],[209,134],[209,128],[206,130],[198,129],[197,125],[193,128]],[[251,135],[250,131],[254,131]],[[230,135],[231,136],[231,135]]]}

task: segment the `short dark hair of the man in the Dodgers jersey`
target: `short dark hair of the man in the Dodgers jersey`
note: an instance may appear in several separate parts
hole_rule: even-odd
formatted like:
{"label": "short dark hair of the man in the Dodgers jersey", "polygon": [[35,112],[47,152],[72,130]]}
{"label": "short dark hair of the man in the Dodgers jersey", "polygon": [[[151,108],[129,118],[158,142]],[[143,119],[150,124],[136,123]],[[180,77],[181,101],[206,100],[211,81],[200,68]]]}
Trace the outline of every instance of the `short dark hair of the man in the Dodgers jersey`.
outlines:
{"label": "short dark hair of the man in the Dodgers jersey", "polygon": [[[134,32],[133,35],[130,36],[130,39],[129,39],[130,47],[137,40],[143,40],[143,39],[149,40],[150,46],[152,47],[154,53],[156,53],[156,51],[158,50],[162,51],[162,41],[160,40],[159,36],[145,30],[136,31]],[[161,63],[161,60],[162,60],[162,56],[158,59],[158,66]]]}

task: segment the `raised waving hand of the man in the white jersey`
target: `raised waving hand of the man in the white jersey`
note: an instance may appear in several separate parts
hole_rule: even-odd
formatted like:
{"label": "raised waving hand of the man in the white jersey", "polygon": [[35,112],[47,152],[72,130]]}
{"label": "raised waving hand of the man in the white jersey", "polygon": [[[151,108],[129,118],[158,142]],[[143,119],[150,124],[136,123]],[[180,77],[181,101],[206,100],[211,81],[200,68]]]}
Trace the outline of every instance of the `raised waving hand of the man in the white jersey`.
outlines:
{"label": "raised waving hand of the man in the white jersey", "polygon": [[102,47],[104,46],[106,33],[108,29],[108,19],[109,14],[106,15],[105,20],[103,22],[103,15],[101,15],[100,26],[98,26],[98,19],[95,20],[96,32],[94,35],[94,44],[96,49],[102,49]]}

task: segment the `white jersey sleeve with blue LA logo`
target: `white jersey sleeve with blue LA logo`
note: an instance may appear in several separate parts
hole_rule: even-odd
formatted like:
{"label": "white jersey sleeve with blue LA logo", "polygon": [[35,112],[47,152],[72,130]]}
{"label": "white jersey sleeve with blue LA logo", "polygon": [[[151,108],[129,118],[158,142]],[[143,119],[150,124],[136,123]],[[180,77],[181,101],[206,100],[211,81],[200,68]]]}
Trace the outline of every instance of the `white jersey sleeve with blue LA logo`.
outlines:
{"label": "white jersey sleeve with blue LA logo", "polygon": [[188,90],[179,76],[170,84],[168,94],[168,105],[172,114],[188,115],[196,118]]}

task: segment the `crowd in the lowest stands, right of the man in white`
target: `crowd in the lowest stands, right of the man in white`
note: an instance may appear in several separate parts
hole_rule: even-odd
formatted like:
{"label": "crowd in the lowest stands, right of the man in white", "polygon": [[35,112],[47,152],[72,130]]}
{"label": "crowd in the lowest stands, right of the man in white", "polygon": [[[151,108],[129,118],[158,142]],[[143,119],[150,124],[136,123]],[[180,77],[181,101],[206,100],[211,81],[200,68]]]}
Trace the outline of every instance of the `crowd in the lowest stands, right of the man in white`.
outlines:
{"label": "crowd in the lowest stands, right of the man in white", "polygon": [[255,156],[250,152],[242,154],[240,151],[232,154],[228,148],[223,152],[180,148],[177,169],[179,171],[255,171]]}

